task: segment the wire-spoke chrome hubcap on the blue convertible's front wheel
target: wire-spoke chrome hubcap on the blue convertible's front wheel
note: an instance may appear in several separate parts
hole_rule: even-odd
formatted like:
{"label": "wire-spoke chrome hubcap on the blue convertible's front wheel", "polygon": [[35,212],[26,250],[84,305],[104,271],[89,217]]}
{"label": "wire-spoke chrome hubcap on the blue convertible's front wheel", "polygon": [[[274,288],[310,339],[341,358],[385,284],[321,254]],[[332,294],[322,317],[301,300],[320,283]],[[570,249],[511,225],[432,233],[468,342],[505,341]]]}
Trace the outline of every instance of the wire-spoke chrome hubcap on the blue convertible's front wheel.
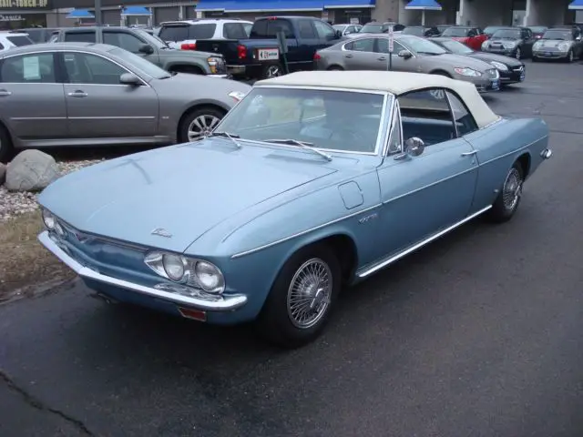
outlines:
{"label": "wire-spoke chrome hubcap on the blue convertible's front wheel", "polygon": [[318,323],[330,306],[331,295],[332,270],[328,264],[318,258],[304,262],[288,289],[288,316],[293,326],[305,330]]}

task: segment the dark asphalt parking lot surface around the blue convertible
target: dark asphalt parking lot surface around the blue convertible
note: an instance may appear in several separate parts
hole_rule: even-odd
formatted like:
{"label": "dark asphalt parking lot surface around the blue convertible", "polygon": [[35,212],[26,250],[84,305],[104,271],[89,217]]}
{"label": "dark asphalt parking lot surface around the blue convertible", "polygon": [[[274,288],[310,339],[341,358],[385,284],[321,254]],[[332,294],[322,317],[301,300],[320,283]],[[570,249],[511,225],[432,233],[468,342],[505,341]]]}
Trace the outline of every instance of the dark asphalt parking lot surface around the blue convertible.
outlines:
{"label": "dark asphalt parking lot surface around the blue convertible", "polygon": [[486,97],[544,117],[517,216],[477,220],[344,293],[297,351],[107,306],[77,283],[0,307],[0,435],[583,434],[583,64]]}

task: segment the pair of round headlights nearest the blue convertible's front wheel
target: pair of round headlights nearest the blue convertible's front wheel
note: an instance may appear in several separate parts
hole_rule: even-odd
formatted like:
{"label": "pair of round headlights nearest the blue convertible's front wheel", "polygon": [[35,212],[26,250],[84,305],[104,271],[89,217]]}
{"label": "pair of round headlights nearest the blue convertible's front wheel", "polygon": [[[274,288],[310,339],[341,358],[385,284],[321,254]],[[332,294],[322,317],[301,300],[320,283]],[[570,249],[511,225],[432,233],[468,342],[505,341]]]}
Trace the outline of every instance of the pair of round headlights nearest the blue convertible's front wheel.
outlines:
{"label": "pair of round headlights nearest the blue convertible's front wheel", "polygon": [[209,261],[154,251],[146,255],[144,262],[162,278],[212,294],[221,294],[225,290],[222,272]]}

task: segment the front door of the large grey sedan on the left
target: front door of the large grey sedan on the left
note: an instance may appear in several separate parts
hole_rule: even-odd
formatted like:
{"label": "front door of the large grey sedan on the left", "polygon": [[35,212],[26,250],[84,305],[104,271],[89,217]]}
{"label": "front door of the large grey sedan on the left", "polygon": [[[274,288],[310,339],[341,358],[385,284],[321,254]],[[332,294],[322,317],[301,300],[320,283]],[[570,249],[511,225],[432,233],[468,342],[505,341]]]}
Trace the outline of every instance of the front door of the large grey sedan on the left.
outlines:
{"label": "front door of the large grey sedan on the left", "polygon": [[120,84],[119,77],[132,72],[105,56],[82,51],[64,52],[62,56],[67,74],[68,131],[72,138],[107,142],[107,138],[157,134],[159,98],[146,82],[142,86]]}

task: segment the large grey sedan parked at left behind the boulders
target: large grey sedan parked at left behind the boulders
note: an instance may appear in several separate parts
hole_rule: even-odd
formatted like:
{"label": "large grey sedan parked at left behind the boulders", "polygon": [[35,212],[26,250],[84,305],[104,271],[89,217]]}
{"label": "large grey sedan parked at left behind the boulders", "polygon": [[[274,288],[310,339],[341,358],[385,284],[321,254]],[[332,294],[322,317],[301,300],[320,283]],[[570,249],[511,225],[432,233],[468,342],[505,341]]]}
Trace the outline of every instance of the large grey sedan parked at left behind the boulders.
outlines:
{"label": "large grey sedan parked at left behind the boulders", "polygon": [[15,48],[0,56],[0,160],[23,147],[187,142],[209,133],[250,89],[172,75],[115,46]]}

